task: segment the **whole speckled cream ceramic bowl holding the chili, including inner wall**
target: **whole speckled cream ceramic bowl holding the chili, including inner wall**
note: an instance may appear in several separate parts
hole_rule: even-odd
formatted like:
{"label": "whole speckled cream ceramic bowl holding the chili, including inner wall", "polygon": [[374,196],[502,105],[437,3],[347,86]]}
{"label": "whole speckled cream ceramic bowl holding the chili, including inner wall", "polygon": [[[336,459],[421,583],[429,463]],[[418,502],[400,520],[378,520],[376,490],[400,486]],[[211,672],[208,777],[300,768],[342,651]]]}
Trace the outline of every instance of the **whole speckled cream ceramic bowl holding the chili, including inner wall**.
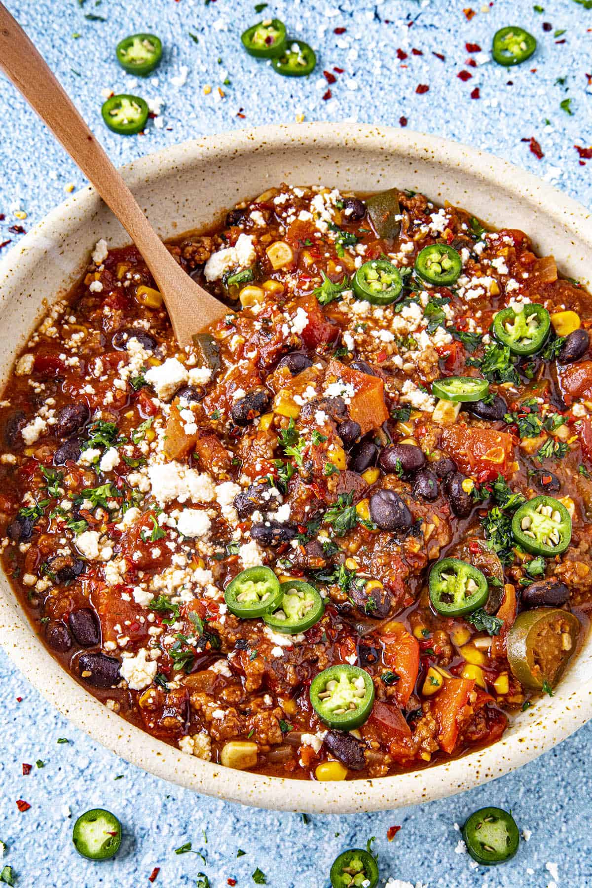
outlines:
{"label": "whole speckled cream ceramic bowl holding the chili, including inner wall", "polygon": [[[509,163],[453,142],[353,123],[310,123],[224,133],[149,155],[123,170],[163,238],[215,221],[221,210],[287,181],[373,191],[414,189],[450,201],[493,226],[517,227],[563,274],[589,285],[590,213]],[[81,274],[94,243],[128,242],[89,187],[26,235],[0,264],[0,372],[10,371],[47,302]],[[196,318],[196,324],[199,319]],[[36,688],[75,725],[117,755],[165,780],[245,805],[348,813],[391,809],[454,795],[539,756],[592,716],[592,641],[556,694],[513,720],[503,739],[444,765],[377,780],[318,783],[233,771],[185,755],[129,725],[95,700],[53,660],[4,575],[0,642]]]}

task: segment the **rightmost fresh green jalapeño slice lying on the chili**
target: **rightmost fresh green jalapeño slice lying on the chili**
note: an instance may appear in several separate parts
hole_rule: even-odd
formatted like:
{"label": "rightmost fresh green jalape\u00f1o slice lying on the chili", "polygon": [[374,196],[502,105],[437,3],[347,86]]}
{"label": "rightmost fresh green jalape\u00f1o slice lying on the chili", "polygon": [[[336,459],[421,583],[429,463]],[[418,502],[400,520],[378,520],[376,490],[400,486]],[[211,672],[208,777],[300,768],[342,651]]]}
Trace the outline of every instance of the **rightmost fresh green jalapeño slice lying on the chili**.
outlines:
{"label": "rightmost fresh green jalape\u00f1o slice lying on the chili", "polygon": [[572,539],[572,519],[563,503],[552,496],[534,496],[512,519],[512,534],[533,555],[560,555]]}

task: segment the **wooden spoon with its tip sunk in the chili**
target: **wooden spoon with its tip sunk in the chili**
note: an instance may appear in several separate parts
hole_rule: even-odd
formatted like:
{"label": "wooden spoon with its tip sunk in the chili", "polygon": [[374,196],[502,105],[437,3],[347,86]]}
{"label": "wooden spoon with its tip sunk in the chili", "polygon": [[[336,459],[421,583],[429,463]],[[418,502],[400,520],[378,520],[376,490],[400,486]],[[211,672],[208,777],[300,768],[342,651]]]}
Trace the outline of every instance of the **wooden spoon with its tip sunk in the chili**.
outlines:
{"label": "wooden spoon with its tip sunk in the chili", "polygon": [[121,175],[17,21],[0,3],[0,68],[78,164],[130,234],[169,312],[179,345],[228,309],[193,281],[170,255]]}

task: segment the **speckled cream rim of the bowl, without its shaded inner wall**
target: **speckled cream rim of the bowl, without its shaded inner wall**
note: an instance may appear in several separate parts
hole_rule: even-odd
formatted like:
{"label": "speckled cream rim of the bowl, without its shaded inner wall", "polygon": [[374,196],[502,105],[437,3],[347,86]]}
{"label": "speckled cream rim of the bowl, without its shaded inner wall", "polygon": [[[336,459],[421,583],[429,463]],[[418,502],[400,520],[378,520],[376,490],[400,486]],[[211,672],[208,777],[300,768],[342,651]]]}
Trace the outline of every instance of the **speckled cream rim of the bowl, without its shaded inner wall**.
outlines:
{"label": "speckled cream rim of the bowl, without its shaded inner wall", "polygon": [[[145,155],[121,168],[133,191],[155,174],[178,170],[179,165],[199,163],[216,157],[249,155],[254,144],[277,150],[308,146],[319,150],[343,145],[343,140],[359,139],[361,150],[386,147],[421,164],[441,163],[442,169],[461,166],[463,170],[504,188],[518,200],[536,201],[544,215],[592,250],[592,217],[580,203],[533,174],[494,155],[460,143],[419,132],[397,130],[359,123],[294,123],[237,130],[201,139],[191,139]],[[47,242],[47,234],[65,229],[75,215],[87,218],[99,209],[101,201],[86,186],[62,202],[43,218],[19,244],[0,260],[0,291],[10,287],[14,266],[26,265],[28,252]],[[170,235],[169,235],[170,236]],[[175,234],[174,236],[178,236]],[[91,249],[91,244],[89,245]],[[34,250],[33,250],[34,252]],[[529,718],[500,741],[467,755],[391,777],[344,782],[318,782],[266,777],[237,772],[222,765],[202,761],[160,741],[120,718],[79,685],[44,648],[28,616],[16,603],[9,583],[2,575],[0,589],[0,644],[30,683],[77,727],[107,749],[167,781],[207,795],[244,805],[310,813],[354,813],[388,810],[451,796],[493,780],[524,765],[546,749],[569,736],[592,718],[592,691],[580,681],[570,694],[559,689],[551,700],[537,703]],[[536,740],[536,742],[526,742]]]}

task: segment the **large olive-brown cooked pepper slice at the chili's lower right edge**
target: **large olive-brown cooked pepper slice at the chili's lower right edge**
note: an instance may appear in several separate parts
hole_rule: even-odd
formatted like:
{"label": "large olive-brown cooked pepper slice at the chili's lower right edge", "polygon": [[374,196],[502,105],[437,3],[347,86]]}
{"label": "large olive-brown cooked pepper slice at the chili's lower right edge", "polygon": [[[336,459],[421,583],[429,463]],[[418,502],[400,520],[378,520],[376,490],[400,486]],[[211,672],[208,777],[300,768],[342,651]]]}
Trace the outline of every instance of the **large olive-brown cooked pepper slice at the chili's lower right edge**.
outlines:
{"label": "large olive-brown cooked pepper slice at the chili's lower right edge", "polygon": [[556,686],[576,652],[580,629],[577,616],[558,607],[534,607],[518,614],[506,640],[514,677],[537,691],[545,682]]}

